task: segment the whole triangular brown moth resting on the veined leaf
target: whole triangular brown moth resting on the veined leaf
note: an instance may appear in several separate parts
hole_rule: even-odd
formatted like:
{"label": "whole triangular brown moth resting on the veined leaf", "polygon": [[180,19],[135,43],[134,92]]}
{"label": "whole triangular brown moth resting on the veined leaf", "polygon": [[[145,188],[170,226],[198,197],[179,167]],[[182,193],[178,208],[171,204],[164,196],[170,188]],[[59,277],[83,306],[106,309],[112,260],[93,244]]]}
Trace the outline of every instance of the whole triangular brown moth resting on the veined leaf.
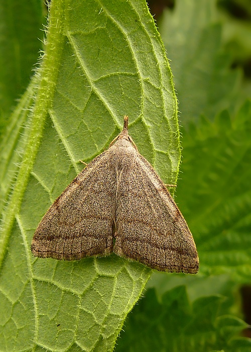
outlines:
{"label": "whole triangular brown moth resting on the veined leaf", "polygon": [[196,274],[192,234],[166,186],[122,132],[55,200],[34,233],[32,253],[78,260],[115,253],[167,272]]}

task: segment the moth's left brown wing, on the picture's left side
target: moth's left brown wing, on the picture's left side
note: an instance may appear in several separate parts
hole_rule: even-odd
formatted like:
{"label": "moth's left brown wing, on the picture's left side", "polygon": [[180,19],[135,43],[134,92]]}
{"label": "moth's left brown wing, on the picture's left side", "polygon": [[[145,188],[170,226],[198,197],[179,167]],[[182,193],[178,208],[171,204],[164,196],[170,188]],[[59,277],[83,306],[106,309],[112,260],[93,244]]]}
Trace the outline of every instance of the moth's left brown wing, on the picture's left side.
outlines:
{"label": "moth's left brown wing, on the picture's left side", "polygon": [[108,168],[105,151],[55,200],[34,233],[35,256],[77,260],[112,252],[116,175]]}

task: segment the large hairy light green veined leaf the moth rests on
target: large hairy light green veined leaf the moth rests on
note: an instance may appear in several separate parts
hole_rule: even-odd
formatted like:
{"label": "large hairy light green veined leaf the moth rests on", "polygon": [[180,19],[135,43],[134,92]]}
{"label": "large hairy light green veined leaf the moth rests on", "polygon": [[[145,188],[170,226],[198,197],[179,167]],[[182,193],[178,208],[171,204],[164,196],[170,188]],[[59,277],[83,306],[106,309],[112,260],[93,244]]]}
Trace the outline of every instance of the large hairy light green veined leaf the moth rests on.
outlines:
{"label": "large hairy light green veined leaf the moth rests on", "polygon": [[[31,114],[19,115],[19,106],[2,146],[7,203],[0,349],[109,351],[151,270],[115,255],[74,262],[34,258],[30,243],[43,214],[81,170],[78,160],[107,148],[125,114],[140,152],[165,183],[176,183],[177,102],[145,1],[52,1],[46,51],[34,79],[20,103],[28,109],[36,94]],[[11,192],[6,175],[12,169]]]}

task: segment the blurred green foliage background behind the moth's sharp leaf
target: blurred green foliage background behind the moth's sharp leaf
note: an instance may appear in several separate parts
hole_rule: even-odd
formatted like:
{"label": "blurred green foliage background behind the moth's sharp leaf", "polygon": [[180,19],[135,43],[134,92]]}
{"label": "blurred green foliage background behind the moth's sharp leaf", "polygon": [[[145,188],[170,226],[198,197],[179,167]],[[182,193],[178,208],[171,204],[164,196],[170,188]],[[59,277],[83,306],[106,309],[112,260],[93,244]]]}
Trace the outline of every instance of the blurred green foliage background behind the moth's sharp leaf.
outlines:
{"label": "blurred green foliage background behind the moth's sharp leaf", "polygon": [[[0,2],[0,138],[43,48],[46,6],[19,6]],[[188,351],[203,339],[197,350],[251,351],[241,320],[251,324],[250,1],[152,0],[149,7],[179,100],[175,200],[203,267],[197,276],[155,272],[116,350]]]}

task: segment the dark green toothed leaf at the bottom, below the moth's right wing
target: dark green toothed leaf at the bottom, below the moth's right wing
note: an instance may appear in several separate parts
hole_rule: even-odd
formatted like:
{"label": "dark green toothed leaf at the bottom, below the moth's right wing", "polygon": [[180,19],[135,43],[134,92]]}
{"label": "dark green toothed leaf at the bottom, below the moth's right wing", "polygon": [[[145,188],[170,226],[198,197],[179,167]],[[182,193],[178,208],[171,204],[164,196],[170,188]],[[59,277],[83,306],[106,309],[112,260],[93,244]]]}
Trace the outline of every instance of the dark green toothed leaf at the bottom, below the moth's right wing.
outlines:
{"label": "dark green toothed leaf at the bottom, below the moth's right wing", "polygon": [[239,339],[235,337],[247,324],[233,316],[219,316],[222,299],[201,297],[190,304],[185,286],[179,286],[167,291],[160,302],[149,289],[128,316],[115,350],[207,352],[216,348],[234,352],[232,346]]}

